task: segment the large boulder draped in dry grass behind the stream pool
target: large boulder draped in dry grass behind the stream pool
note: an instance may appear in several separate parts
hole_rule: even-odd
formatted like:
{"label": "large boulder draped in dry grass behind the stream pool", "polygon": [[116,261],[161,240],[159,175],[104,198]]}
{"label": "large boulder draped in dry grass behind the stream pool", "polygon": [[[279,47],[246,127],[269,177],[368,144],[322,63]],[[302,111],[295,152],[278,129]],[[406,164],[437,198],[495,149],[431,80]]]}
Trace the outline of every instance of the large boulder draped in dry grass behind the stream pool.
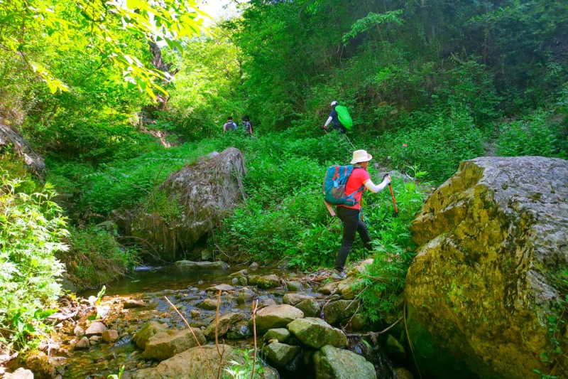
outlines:
{"label": "large boulder draped in dry grass behind the stream pool", "polygon": [[230,147],[209,154],[171,174],[134,215],[131,233],[152,245],[160,259],[173,262],[191,255],[193,247],[244,196],[244,157]]}

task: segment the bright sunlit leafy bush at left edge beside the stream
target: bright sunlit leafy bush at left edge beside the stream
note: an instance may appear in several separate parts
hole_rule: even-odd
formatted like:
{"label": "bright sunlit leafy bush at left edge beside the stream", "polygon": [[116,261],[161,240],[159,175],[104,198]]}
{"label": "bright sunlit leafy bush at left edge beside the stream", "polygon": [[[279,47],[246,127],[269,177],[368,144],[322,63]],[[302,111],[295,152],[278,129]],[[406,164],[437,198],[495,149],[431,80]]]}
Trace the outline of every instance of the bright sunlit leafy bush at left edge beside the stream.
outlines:
{"label": "bright sunlit leafy bush at left edge beside the stream", "polygon": [[64,266],[55,252],[67,250],[62,210],[53,188],[18,192],[21,181],[0,171],[0,348],[25,349],[47,326]]}

